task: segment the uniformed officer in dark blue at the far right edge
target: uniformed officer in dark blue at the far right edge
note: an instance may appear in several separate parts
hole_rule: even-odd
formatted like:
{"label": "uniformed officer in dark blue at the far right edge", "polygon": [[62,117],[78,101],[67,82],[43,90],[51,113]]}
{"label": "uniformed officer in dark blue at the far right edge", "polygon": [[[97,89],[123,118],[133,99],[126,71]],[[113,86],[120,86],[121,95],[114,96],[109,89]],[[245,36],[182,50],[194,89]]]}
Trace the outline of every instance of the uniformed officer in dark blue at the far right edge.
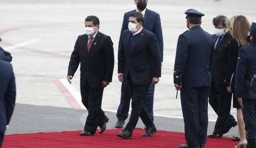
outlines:
{"label": "uniformed officer in dark blue at the far right edge", "polygon": [[[256,23],[252,23],[246,37],[248,45],[238,51],[236,65],[236,97],[243,108],[245,129],[249,148],[256,148]],[[247,142],[240,142],[246,145]]]}

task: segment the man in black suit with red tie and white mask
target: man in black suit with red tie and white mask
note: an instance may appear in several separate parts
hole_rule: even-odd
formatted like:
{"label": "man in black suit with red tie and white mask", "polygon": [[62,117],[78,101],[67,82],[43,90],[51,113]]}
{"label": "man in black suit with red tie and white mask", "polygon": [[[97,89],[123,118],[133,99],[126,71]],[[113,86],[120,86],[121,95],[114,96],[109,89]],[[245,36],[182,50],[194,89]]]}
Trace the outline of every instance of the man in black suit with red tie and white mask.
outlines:
{"label": "man in black suit with red tie and white mask", "polygon": [[68,81],[73,78],[80,63],[80,91],[88,116],[81,136],[106,130],[108,118],[101,109],[104,87],[112,81],[114,49],[110,36],[99,32],[100,21],[96,16],[85,19],[86,34],[78,36],[68,66]]}

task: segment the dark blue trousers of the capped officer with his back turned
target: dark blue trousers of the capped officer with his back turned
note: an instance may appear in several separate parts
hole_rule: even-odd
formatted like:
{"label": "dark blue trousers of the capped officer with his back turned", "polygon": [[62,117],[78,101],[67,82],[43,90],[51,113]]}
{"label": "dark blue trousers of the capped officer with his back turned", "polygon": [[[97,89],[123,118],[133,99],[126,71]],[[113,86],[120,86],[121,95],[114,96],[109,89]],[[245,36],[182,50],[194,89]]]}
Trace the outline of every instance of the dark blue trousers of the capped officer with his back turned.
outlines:
{"label": "dark blue trousers of the capped officer with his back turned", "polygon": [[188,146],[206,144],[210,87],[182,87],[180,90],[185,138]]}

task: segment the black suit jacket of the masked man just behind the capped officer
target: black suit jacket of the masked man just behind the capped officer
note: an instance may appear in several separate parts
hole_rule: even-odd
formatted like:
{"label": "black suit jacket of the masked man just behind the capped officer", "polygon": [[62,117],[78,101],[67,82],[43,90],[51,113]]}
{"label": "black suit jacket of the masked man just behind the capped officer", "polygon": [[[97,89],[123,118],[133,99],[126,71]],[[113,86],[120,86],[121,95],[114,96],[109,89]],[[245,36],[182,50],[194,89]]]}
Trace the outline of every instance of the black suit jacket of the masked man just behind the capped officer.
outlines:
{"label": "black suit jacket of the masked man just behind the capped officer", "polygon": [[[218,36],[214,34],[212,37],[214,42],[216,42]],[[228,45],[229,41],[232,39],[233,37],[228,31],[215,48],[212,63],[212,81],[216,85],[225,85],[224,82],[226,79],[226,70],[228,64]]]}

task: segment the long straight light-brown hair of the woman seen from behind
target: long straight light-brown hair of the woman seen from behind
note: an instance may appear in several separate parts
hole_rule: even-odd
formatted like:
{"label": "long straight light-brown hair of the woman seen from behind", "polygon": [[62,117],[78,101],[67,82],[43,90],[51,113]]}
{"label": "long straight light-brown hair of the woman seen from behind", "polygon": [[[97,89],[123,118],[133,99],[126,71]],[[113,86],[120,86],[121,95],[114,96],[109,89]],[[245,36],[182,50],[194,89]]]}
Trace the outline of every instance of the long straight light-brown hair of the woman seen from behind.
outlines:
{"label": "long straight light-brown hair of the woman seen from behind", "polygon": [[250,30],[251,24],[245,16],[237,16],[233,23],[232,36],[238,42],[239,47],[248,45],[246,35]]}

